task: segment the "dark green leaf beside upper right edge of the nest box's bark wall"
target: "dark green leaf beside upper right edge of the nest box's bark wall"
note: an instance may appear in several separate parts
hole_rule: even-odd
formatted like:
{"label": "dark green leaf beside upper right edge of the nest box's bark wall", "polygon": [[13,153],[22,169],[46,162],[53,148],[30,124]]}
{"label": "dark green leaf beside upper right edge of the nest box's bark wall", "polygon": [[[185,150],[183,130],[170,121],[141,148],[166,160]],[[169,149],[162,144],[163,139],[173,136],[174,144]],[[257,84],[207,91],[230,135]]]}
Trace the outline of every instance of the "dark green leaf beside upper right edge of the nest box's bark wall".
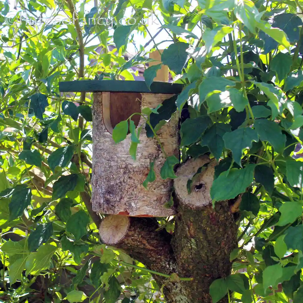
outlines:
{"label": "dark green leaf beside upper right edge of the nest box's bark wall", "polygon": [[[210,124],[211,119],[208,116],[186,119],[182,123],[180,129],[180,146],[190,145],[191,143],[196,142]],[[195,129],[195,132],[193,132],[193,129]]]}

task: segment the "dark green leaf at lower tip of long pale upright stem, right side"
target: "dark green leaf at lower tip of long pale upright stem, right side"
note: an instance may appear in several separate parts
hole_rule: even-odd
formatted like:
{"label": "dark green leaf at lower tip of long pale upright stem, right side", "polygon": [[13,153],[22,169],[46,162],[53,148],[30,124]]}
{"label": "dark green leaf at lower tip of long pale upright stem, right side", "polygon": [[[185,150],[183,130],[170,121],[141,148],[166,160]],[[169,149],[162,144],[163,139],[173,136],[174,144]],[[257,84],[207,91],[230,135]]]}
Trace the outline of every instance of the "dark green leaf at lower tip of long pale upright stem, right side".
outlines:
{"label": "dark green leaf at lower tip of long pale upright stem, right side", "polygon": [[286,136],[282,134],[281,127],[269,120],[256,120],[254,128],[262,141],[268,141],[275,151],[282,153],[285,148]]}

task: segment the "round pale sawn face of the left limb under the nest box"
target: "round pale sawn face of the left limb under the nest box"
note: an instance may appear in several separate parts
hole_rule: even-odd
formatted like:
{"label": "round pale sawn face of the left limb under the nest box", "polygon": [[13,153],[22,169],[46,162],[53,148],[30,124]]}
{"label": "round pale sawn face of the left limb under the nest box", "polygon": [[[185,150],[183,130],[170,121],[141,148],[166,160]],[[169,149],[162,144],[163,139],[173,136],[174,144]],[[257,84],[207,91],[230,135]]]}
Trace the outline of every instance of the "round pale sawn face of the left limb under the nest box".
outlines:
{"label": "round pale sawn face of the left limb under the nest box", "polygon": [[128,227],[128,217],[109,215],[105,217],[100,224],[100,238],[105,244],[115,245],[124,238],[128,231]]}

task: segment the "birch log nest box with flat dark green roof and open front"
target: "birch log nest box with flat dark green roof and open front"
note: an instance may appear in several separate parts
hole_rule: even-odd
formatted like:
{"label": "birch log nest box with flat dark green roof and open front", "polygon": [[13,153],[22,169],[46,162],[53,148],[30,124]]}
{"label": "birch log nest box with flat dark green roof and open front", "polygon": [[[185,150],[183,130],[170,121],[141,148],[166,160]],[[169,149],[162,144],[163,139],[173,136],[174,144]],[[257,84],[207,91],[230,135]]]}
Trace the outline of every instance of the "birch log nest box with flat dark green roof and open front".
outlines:
{"label": "birch log nest box with flat dark green roof and open front", "polygon": [[[155,138],[148,138],[145,120],[133,115],[135,126],[142,127],[137,146],[136,160],[129,155],[131,134],[115,144],[112,131],[115,125],[127,120],[142,108],[156,108],[164,100],[182,90],[181,84],[153,82],[150,90],[143,81],[81,80],[60,82],[60,92],[93,92],[93,167],[92,208],[110,215],[138,217],[166,217],[174,215],[172,208],[165,208],[170,200],[173,180],[162,180],[160,169],[165,156]],[[178,116],[171,119],[157,132],[167,156],[178,158]],[[155,161],[156,180],[142,185],[148,175],[150,163]]]}

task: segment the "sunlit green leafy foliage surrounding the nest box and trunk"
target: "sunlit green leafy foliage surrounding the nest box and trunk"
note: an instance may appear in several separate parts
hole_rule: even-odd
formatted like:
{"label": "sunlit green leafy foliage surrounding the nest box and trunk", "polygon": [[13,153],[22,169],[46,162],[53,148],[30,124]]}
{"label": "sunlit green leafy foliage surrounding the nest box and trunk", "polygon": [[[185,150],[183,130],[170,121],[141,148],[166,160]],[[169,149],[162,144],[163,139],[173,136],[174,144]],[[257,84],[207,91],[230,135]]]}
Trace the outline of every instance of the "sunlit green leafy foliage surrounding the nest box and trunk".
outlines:
{"label": "sunlit green leafy foliage surrounding the nest box and trunk", "polygon": [[[149,136],[177,112],[181,162],[216,158],[213,204],[241,197],[233,272],[211,284],[213,302],[228,295],[301,303],[303,1],[15,5],[0,3],[1,300],[164,301],[144,265],[99,241],[100,217],[90,207],[91,96],[58,88],[77,79],[133,80],[131,68],[150,61],[134,33],[151,35],[145,20],[153,14],[170,45],[145,69],[146,85],[164,64],[184,88],[173,111],[169,102],[144,109]],[[149,38],[151,50],[161,49]],[[130,44],[137,52],[125,59]],[[135,158],[140,129],[129,127]],[[114,140],[127,132],[128,122],[119,123]],[[177,162],[168,157],[161,177],[174,178]],[[143,185],[154,179],[151,163]]]}

